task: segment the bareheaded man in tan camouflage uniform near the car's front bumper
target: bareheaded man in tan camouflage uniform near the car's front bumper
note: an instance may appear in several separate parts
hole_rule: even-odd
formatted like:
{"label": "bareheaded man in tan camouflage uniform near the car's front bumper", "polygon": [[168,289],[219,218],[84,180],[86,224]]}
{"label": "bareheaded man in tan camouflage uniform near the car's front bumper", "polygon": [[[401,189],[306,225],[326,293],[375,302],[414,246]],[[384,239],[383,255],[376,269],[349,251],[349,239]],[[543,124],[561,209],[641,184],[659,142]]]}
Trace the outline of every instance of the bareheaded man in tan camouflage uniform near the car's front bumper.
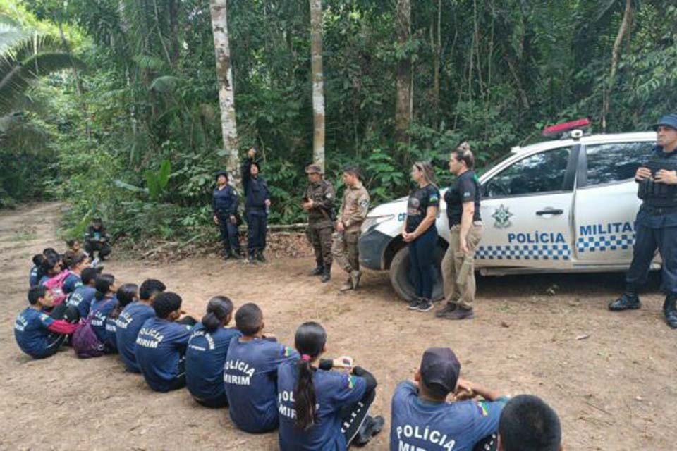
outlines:
{"label": "bareheaded man in tan camouflage uniform near the car's front bumper", "polygon": [[360,170],[356,167],[343,171],[343,202],[338,209],[336,233],[331,254],[336,262],[348,273],[348,280],[341,285],[341,291],[357,290],[360,285],[360,259],[358,257],[358,238],[362,222],[369,211],[369,193],[360,182]]}

